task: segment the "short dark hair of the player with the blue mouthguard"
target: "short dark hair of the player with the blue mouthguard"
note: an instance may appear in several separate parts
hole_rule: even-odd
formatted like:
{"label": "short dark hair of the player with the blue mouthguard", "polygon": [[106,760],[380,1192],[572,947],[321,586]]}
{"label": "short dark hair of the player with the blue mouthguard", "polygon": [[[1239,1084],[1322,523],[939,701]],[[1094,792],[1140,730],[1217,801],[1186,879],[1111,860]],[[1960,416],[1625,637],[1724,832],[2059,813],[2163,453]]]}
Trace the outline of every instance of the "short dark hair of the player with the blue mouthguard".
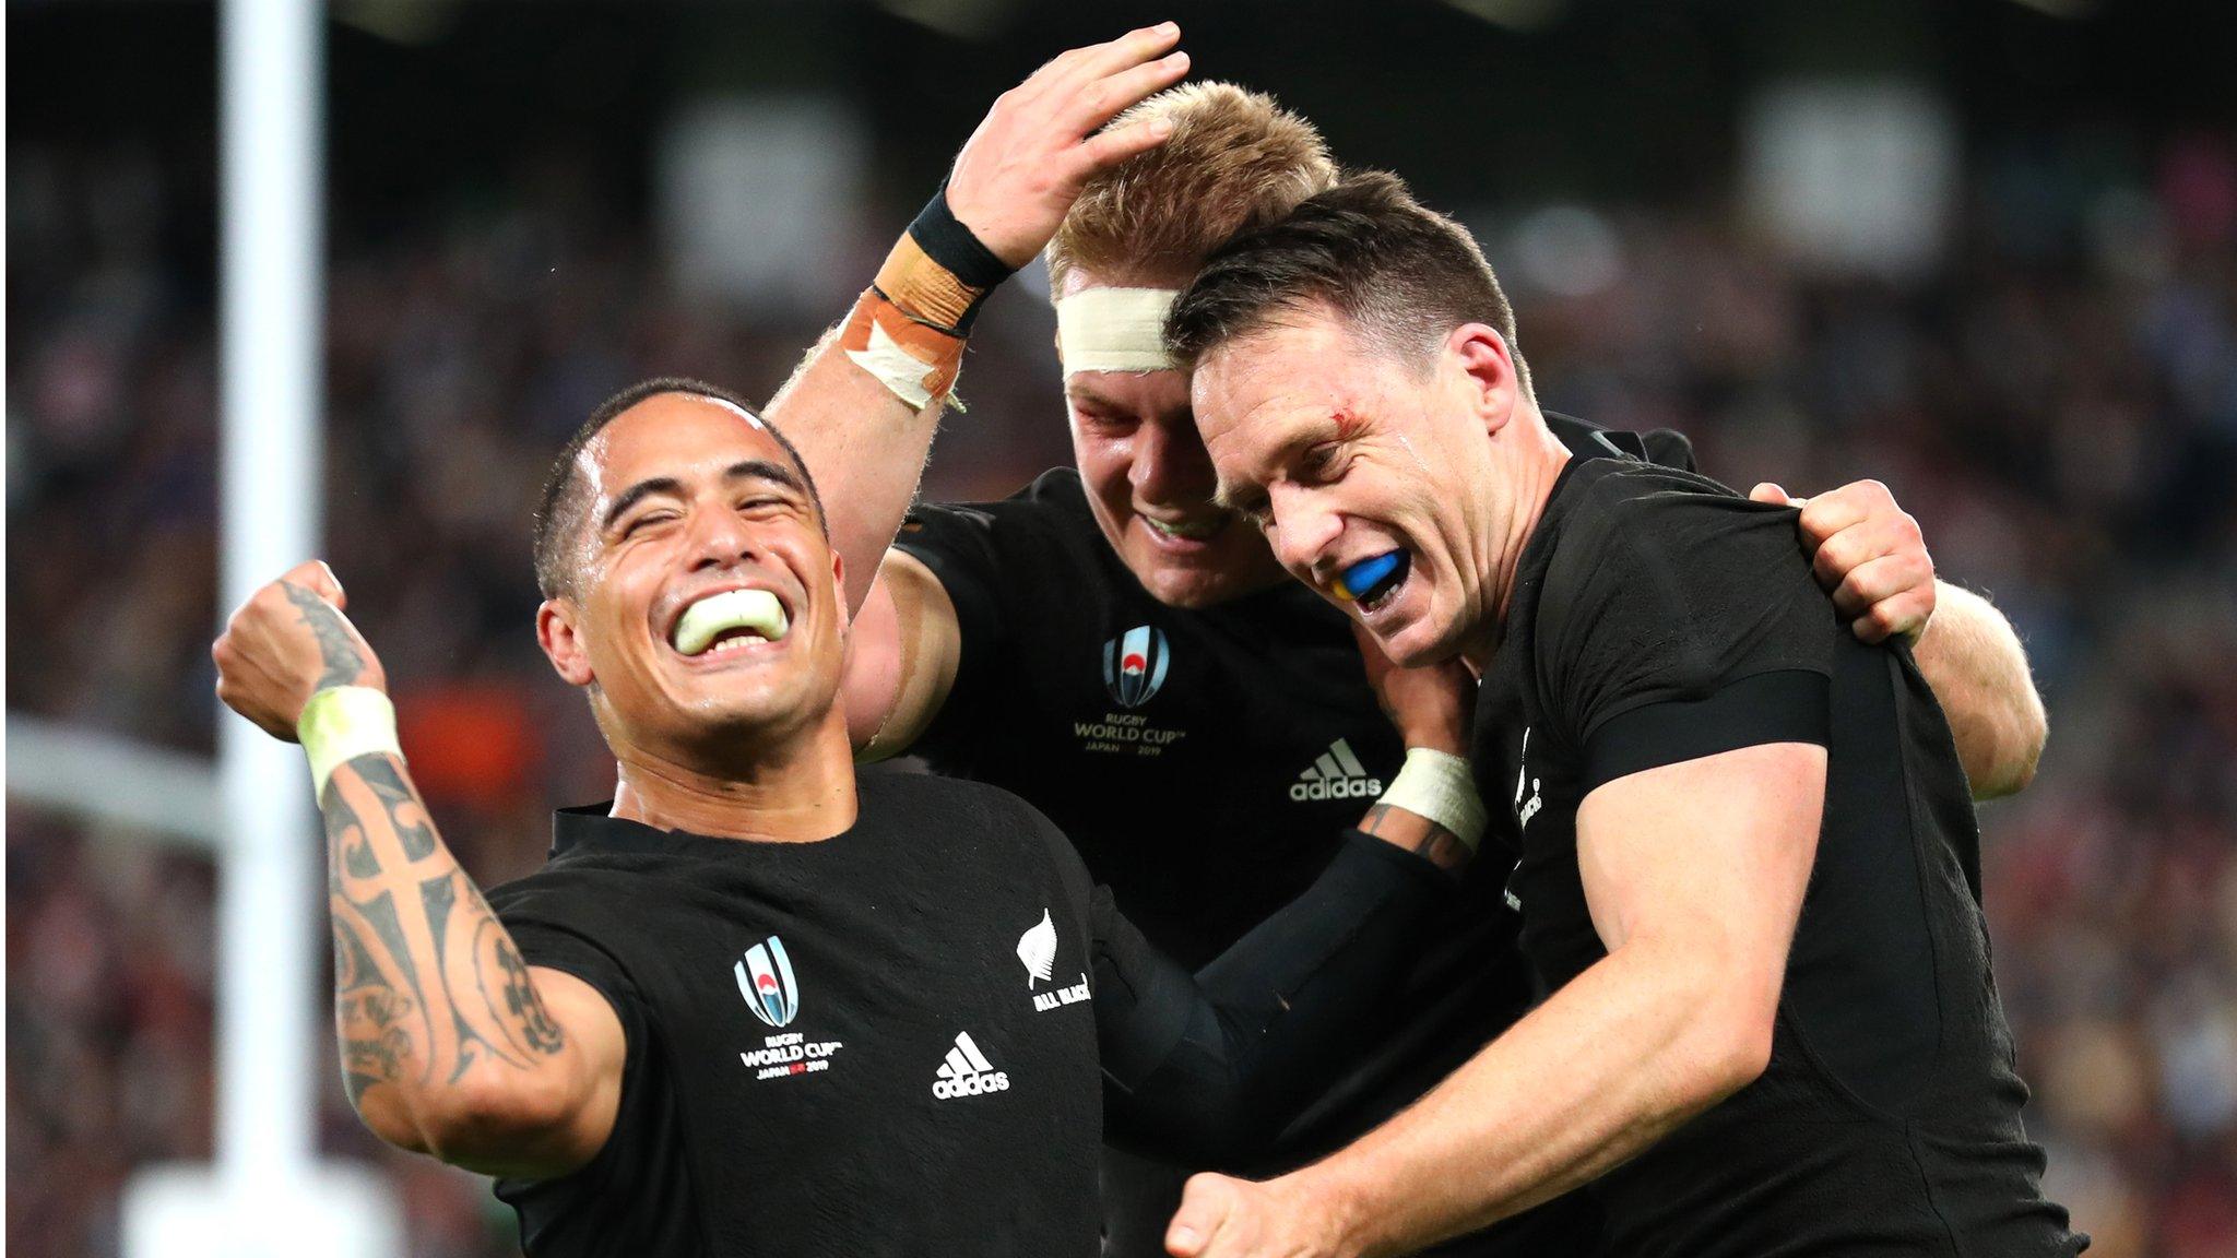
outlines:
{"label": "short dark hair of the player with the blue mouthguard", "polygon": [[1327,302],[1376,347],[1423,358],[1467,322],[1499,331],[1530,396],[1514,309],[1467,228],[1425,208],[1405,179],[1347,175],[1289,217],[1212,251],[1165,316],[1165,347],[1195,363],[1286,311]]}

